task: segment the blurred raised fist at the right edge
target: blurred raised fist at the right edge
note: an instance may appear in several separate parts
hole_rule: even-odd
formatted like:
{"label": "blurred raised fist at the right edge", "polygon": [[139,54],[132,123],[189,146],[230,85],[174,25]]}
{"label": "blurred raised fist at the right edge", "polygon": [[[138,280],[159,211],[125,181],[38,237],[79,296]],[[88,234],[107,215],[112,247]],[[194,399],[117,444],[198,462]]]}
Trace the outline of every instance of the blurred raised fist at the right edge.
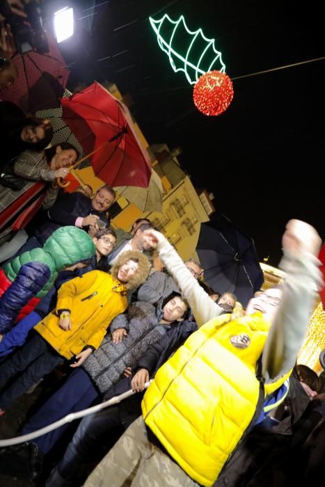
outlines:
{"label": "blurred raised fist at the right edge", "polygon": [[284,250],[293,253],[312,253],[317,257],[322,239],[314,227],[300,220],[290,220],[282,237]]}

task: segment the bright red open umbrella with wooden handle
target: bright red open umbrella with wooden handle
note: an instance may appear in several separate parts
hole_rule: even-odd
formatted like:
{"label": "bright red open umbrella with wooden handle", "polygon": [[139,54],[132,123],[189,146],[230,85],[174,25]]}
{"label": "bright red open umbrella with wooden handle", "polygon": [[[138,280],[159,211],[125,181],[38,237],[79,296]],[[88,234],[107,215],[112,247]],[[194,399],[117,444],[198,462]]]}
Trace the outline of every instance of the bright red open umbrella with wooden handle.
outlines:
{"label": "bright red open umbrella with wooden handle", "polygon": [[81,143],[95,175],[111,186],[148,187],[151,164],[127,106],[100,83],[62,99],[63,120]]}

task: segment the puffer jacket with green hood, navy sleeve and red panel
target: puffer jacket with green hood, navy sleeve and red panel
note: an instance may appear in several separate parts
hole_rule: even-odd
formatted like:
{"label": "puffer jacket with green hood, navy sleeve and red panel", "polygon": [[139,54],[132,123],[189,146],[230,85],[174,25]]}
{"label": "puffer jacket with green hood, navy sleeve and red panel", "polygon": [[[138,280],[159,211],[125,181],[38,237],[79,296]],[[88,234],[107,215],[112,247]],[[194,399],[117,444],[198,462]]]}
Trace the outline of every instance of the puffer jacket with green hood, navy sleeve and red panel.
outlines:
{"label": "puffer jacket with green hood, navy sleeve and red panel", "polygon": [[8,331],[18,315],[20,319],[35,308],[60,271],[94,255],[90,236],[67,226],[51,234],[43,248],[33,248],[8,262],[0,271],[0,333]]}

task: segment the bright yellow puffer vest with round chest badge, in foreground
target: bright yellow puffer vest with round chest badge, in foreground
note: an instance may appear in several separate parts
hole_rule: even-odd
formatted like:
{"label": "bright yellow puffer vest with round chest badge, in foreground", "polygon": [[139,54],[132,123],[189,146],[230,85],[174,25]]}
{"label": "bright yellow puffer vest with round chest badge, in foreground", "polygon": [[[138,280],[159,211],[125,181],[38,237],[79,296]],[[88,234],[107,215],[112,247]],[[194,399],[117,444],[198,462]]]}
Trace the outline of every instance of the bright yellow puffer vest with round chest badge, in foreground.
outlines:
{"label": "bright yellow puffer vest with round chest badge, in foreground", "polygon": [[[260,312],[212,319],[159,369],[142,403],[145,423],[189,477],[212,486],[255,415],[255,376],[269,323]],[[285,377],[264,385],[265,397]]]}

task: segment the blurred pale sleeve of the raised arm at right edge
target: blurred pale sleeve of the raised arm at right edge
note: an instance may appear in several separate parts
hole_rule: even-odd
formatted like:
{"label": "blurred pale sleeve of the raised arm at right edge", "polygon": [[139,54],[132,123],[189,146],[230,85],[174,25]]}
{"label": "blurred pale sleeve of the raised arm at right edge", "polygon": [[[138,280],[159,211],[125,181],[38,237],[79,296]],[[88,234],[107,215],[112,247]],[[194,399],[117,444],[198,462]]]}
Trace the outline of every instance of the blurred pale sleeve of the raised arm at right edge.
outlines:
{"label": "blurred pale sleeve of the raised arm at right edge", "polygon": [[262,376],[275,381],[294,367],[301,349],[317,285],[322,282],[319,260],[311,253],[299,257],[284,251],[280,268],[286,272],[283,295],[262,353]]}

